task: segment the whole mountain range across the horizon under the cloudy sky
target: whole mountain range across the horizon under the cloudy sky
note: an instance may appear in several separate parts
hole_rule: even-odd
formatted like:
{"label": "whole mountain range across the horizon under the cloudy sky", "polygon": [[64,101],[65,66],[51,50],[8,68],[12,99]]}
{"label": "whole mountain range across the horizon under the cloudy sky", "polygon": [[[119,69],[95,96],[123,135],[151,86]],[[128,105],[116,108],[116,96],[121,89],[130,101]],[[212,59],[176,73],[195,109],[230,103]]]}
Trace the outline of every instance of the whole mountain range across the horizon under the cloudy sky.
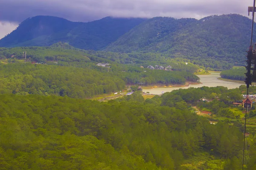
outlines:
{"label": "whole mountain range across the horizon under the cloudy sky", "polygon": [[[0,46],[49,46],[61,41],[85,50],[117,52],[111,53],[111,57],[121,63],[143,63],[148,59],[168,62],[178,58],[209,70],[224,70],[245,64],[241,61],[248,47],[250,25],[249,18],[238,14],[201,20],[105,17],[89,23],[38,16],[23,21],[0,40]],[[103,58],[105,55],[110,53],[100,54]]]}

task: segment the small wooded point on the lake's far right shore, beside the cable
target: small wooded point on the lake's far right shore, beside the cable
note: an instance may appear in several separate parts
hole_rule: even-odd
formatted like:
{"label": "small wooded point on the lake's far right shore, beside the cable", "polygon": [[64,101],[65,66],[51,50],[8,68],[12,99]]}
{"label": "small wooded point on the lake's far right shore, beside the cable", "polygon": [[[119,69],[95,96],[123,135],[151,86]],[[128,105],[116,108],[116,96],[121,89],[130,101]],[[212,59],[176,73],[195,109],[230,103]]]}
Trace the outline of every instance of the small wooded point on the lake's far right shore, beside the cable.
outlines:
{"label": "small wooded point on the lake's far right shore, beside the cable", "polygon": [[225,70],[221,72],[221,78],[224,79],[233,79],[233,80],[245,80],[245,74],[246,69],[244,67],[239,67],[239,68],[233,68],[230,70]]}

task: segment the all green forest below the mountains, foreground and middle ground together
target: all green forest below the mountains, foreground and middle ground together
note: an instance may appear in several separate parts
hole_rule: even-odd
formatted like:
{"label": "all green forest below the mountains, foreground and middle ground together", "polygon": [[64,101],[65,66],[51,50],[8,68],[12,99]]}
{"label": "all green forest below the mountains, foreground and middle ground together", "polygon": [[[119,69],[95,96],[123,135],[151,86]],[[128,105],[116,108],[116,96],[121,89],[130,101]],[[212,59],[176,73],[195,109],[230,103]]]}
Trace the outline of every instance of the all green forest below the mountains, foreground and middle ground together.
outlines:
{"label": "all green forest below the mountains, foreground and middle ground together", "polygon": [[[240,170],[241,122],[219,120],[212,125],[196,115],[191,105],[208,108],[216,116],[239,119],[228,107],[241,100],[243,86],[234,90],[180,89],[146,100],[139,93],[109,102],[84,100],[121,91],[127,84],[183,84],[199,78],[187,72],[195,68],[192,64],[177,62],[173,68],[177,71],[163,71],[106,59],[111,68],[103,68],[96,66],[100,57],[53,48],[58,47],[25,49],[31,61],[42,59],[47,64],[21,62],[23,48],[2,48],[3,169]],[[202,97],[213,100],[216,96],[220,101],[198,103]],[[249,118],[255,115],[252,111]],[[253,156],[251,152],[248,170],[254,168]]]}

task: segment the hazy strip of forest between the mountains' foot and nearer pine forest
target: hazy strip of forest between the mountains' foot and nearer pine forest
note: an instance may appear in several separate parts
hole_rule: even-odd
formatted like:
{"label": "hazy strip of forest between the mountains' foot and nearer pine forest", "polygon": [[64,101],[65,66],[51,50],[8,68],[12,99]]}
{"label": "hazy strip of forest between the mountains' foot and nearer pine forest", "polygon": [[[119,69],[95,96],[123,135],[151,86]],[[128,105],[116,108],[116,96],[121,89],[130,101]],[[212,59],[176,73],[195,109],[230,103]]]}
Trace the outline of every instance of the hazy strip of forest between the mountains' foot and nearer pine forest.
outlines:
{"label": "hazy strip of forest between the mountains' foot and nearer pine forest", "polygon": [[96,62],[132,64],[136,66],[164,65],[172,66],[173,71],[188,71],[194,73],[200,68],[188,60],[169,59],[162,54],[153,53],[132,53],[120,54],[106,51],[85,51],[74,48],[67,43],[55,43],[50,47],[16,47],[0,48],[0,59],[24,59],[23,52],[26,52],[28,61],[43,62],[52,64],[52,61],[58,61],[58,65],[89,67]]}

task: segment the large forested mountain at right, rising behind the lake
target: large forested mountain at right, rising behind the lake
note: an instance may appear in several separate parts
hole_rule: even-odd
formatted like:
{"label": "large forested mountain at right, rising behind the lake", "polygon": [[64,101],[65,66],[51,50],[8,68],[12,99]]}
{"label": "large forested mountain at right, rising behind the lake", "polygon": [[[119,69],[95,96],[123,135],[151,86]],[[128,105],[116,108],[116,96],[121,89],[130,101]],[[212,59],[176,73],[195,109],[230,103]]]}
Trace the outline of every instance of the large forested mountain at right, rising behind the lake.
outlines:
{"label": "large forested mountain at right, rising behind the lake", "polygon": [[251,20],[238,14],[214,15],[201,20],[155,17],[134,27],[105,50],[212,58],[239,64],[249,46],[250,28]]}

